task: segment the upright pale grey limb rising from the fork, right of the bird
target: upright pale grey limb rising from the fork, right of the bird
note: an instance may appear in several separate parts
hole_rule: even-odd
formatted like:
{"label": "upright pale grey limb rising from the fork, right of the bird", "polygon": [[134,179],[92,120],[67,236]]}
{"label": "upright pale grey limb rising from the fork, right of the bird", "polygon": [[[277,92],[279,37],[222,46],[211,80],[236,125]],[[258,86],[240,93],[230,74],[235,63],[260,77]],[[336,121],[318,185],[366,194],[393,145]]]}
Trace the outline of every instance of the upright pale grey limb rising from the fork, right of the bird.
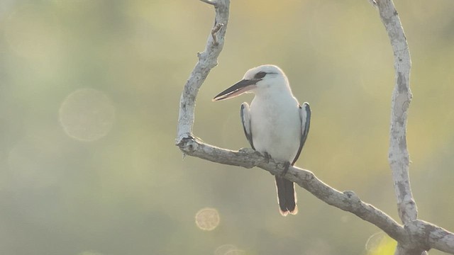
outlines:
{"label": "upright pale grey limb rising from the fork, right of the bird", "polygon": [[[392,0],[375,0],[380,18],[387,30],[394,52],[395,86],[392,92],[391,125],[389,128],[389,165],[392,169],[394,193],[397,197],[397,210],[404,224],[416,220],[418,210],[411,193],[409,177],[409,152],[406,147],[406,118],[411,101],[409,47],[404,28]],[[426,254],[424,249],[413,244],[399,242],[396,255]]]}

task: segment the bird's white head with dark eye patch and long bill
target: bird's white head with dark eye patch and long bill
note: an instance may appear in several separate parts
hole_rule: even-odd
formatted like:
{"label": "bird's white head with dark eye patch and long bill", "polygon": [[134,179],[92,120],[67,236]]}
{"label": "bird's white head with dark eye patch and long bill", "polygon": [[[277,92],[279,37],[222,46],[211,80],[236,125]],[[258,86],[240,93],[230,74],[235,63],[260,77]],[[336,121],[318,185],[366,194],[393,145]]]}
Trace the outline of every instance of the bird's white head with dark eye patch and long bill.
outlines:
{"label": "bird's white head with dark eye patch and long bill", "polygon": [[241,81],[230,88],[222,91],[213,98],[213,101],[221,101],[240,96],[243,93],[258,94],[261,91],[275,91],[289,89],[289,82],[282,70],[272,64],[249,69]]}

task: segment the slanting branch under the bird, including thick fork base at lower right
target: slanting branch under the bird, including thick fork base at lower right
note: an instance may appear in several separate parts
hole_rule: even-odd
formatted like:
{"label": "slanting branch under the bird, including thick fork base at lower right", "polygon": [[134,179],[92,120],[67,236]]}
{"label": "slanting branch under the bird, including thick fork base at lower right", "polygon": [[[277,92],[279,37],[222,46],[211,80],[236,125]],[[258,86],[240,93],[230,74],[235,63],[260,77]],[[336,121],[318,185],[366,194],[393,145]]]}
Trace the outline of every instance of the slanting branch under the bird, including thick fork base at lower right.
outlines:
{"label": "slanting branch under the bird, including thick fork base at lower right", "polygon": [[[190,156],[220,164],[243,166],[247,169],[257,166],[271,174],[281,174],[285,167],[284,162],[274,162],[253,149],[243,148],[239,151],[222,149],[208,145],[196,137],[186,137],[177,146],[184,154]],[[415,249],[421,254],[421,247],[423,250],[433,248],[454,254],[454,234],[441,227],[422,220],[413,220],[402,227],[389,215],[373,205],[362,202],[353,191],[337,191],[305,169],[289,166],[284,178],[294,181],[328,205],[352,212],[362,220],[379,227],[389,237],[399,242],[397,251],[400,251],[400,254],[417,254],[414,253]]]}

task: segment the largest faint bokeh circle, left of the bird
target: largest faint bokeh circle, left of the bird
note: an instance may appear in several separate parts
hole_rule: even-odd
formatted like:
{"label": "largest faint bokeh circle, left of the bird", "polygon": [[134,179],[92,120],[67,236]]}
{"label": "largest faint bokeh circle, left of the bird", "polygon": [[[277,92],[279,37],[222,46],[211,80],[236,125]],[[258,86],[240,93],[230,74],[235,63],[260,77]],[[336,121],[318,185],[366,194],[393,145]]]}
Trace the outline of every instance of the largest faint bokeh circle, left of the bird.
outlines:
{"label": "largest faint bokeh circle, left of the bird", "polygon": [[109,133],[115,121],[115,106],[95,89],[78,89],[60,106],[60,124],[70,137],[92,142]]}

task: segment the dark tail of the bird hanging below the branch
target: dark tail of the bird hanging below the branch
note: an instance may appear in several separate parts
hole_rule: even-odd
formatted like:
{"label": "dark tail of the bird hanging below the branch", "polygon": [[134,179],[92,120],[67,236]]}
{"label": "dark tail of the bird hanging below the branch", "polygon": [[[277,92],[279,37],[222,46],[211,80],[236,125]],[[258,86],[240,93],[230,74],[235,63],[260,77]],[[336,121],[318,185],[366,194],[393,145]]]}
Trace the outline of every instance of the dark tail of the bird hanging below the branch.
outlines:
{"label": "dark tail of the bird hanging below the branch", "polygon": [[298,206],[294,183],[279,176],[275,176],[275,179],[279,212],[281,212],[282,216],[287,216],[289,213],[296,215],[298,213]]}

